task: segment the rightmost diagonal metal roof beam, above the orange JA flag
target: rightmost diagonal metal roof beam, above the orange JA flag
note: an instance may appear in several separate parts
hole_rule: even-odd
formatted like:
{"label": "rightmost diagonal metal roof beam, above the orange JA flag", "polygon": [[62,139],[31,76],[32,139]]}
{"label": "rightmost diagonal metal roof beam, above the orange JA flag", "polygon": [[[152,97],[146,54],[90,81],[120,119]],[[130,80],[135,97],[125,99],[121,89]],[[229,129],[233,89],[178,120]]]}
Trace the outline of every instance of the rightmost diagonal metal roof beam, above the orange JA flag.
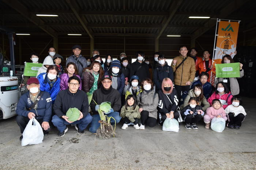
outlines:
{"label": "rightmost diagonal metal roof beam, above the orange JA flag", "polygon": [[[245,4],[248,1],[249,0],[242,0],[242,1],[241,0],[234,0],[234,1],[231,1],[230,4],[226,5],[226,7],[223,8],[219,12],[218,18],[226,19],[226,17],[228,17],[230,15],[230,13],[233,13],[234,11],[236,11],[238,8],[240,8],[243,4]],[[197,31],[195,31],[195,33],[193,33],[193,36],[191,37],[191,39],[196,39],[199,36],[203,35],[210,28],[214,27],[214,25],[216,25],[216,20],[214,20],[214,19],[208,20],[208,22],[204,24],[204,26],[205,26],[204,28],[199,28],[199,29],[197,29]]]}

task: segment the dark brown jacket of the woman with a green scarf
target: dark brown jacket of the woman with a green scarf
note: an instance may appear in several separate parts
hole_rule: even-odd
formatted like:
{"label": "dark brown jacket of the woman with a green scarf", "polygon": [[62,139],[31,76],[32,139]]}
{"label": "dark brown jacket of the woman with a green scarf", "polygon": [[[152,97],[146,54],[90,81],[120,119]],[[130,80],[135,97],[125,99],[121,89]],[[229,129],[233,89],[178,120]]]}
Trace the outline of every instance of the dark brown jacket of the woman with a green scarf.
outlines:
{"label": "dark brown jacket of the woman with a green scarf", "polygon": [[[93,76],[93,70],[85,70],[83,73],[83,91],[86,93],[91,90],[91,87],[93,87],[94,83],[94,76]],[[99,82],[98,79],[98,88],[100,87],[101,82]]]}

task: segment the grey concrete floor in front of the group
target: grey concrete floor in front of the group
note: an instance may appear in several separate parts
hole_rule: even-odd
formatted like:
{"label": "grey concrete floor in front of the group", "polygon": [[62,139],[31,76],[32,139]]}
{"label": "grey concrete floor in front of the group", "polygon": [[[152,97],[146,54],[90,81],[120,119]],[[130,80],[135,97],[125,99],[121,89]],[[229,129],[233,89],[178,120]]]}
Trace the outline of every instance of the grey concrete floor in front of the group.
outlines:
{"label": "grey concrete floor in front of the group", "polygon": [[161,126],[98,139],[69,127],[64,137],[53,129],[38,145],[21,146],[15,118],[0,121],[0,169],[256,169],[256,99],[244,98],[247,116],[240,130],[222,133],[180,125],[178,133]]}

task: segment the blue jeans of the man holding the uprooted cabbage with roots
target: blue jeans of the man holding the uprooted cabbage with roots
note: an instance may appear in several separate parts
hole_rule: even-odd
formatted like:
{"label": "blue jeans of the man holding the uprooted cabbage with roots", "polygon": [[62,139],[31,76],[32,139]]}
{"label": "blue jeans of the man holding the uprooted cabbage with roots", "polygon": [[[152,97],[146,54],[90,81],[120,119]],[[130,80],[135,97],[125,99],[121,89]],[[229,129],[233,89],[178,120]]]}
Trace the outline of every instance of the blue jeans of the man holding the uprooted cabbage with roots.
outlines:
{"label": "blue jeans of the man holding the uprooted cabbage with roots", "polygon": [[[119,123],[120,120],[121,120],[121,117],[119,116],[119,112],[117,112],[117,111],[114,111],[114,112],[112,112],[110,114],[107,114],[107,115],[108,115],[108,117],[112,116],[114,119],[116,119],[116,123]],[[93,115],[92,117],[93,117],[93,120],[91,120],[91,127],[89,128],[89,131],[91,133],[96,133],[97,129],[101,125],[99,123],[99,120],[101,120],[101,118],[99,117],[99,114]],[[110,123],[112,125],[115,124],[114,119],[110,120]]]}

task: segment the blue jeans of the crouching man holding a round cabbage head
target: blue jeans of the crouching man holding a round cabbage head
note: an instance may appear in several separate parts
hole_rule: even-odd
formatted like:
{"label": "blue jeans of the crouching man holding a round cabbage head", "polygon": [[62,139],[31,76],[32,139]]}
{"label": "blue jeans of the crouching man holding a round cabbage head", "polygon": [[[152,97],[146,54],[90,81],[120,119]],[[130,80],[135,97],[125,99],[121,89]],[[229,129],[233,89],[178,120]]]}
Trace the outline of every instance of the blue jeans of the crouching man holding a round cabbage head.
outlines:
{"label": "blue jeans of the crouching man holding a round cabbage head", "polygon": [[92,117],[89,113],[84,118],[82,118],[80,120],[76,120],[73,123],[68,123],[65,119],[59,118],[57,115],[54,115],[52,117],[53,125],[56,126],[60,132],[63,132],[66,129],[67,124],[78,124],[79,129],[84,130],[84,129],[86,129],[88,124],[91,122],[91,120],[92,120]]}

